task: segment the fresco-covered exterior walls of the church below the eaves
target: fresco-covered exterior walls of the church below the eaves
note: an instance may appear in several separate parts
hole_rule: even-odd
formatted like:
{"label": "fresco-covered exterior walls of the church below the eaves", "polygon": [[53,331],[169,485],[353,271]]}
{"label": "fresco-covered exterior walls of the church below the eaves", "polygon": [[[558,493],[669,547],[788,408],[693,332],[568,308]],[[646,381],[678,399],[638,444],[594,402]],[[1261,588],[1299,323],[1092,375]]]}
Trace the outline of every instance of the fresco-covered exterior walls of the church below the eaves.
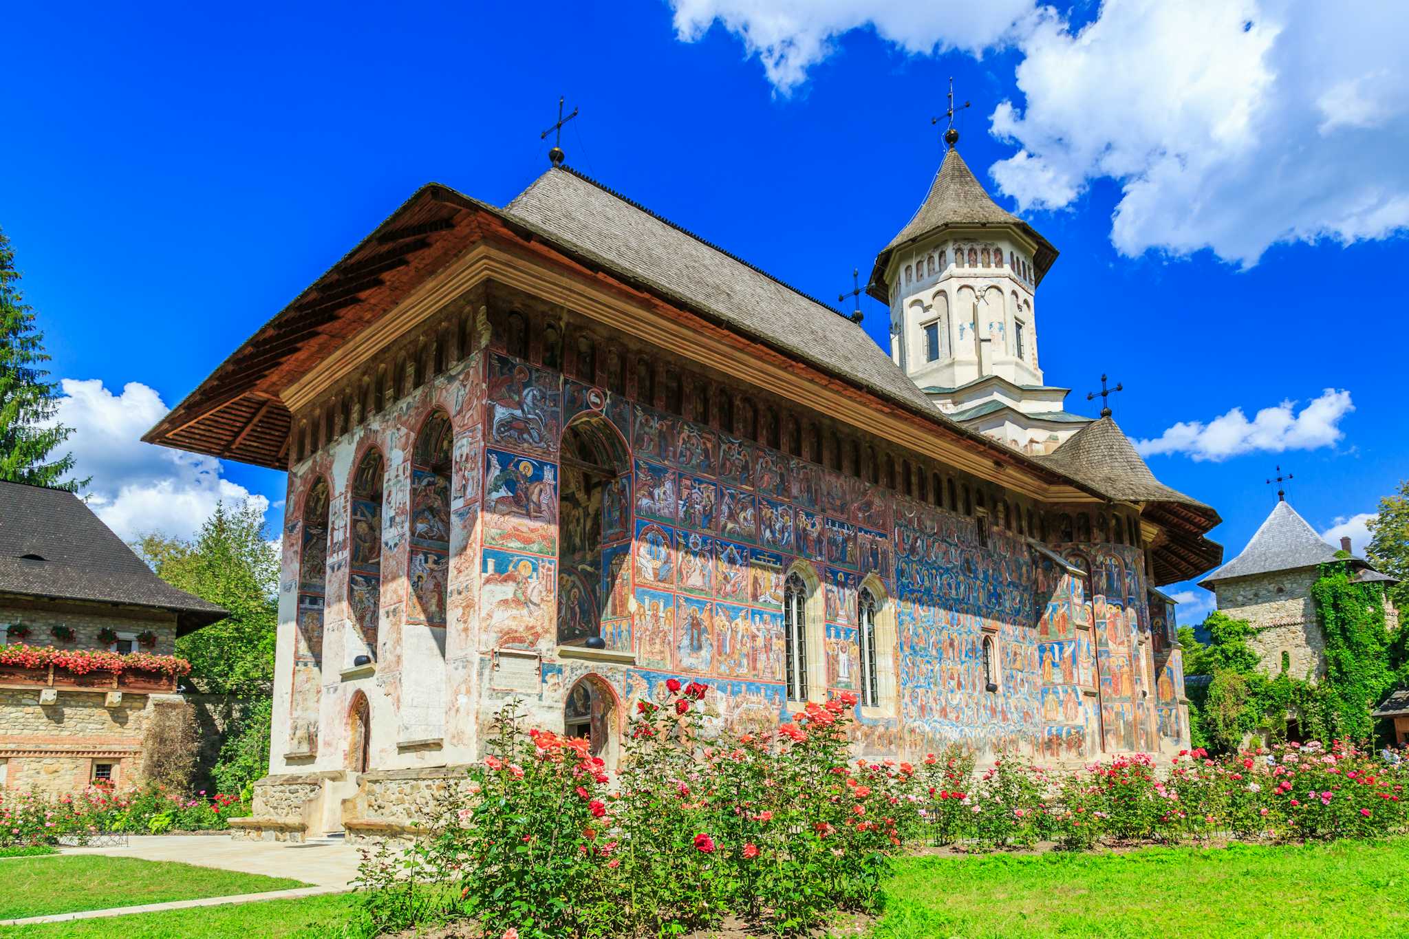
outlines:
{"label": "fresco-covered exterior walls of the church below the eaves", "polygon": [[[449,422],[435,445],[448,470],[416,456],[433,411]],[[376,670],[340,680],[352,648],[340,636],[358,628],[358,601],[347,598],[338,519],[365,514],[354,467],[371,448],[386,462]],[[314,769],[342,766],[355,688],[371,702],[375,769],[473,759],[513,698],[561,726],[588,676],[595,697],[569,722],[581,712],[620,726],[666,677],[688,676],[710,686],[716,726],[774,725],[792,710],[782,605],[795,567],[820,591],[828,694],[859,688],[862,583],[882,608],[890,655],[879,669],[893,680],[878,707],[859,708],[867,752],[955,742],[1081,760],[1175,749],[1186,735],[1177,704],[1157,722],[1150,690],[1167,684],[1182,700],[1182,676],[1164,657],[1155,679],[1138,548],[1082,539],[1044,555],[983,512],[937,508],[502,352],[485,349],[355,421],[293,467],[289,505],[320,479],[333,505],[323,694],[282,705],[294,718],[317,714]],[[993,521],[1006,515],[995,510]],[[294,518],[286,594],[299,583]],[[362,560],[352,567],[368,572]],[[589,636],[603,648],[588,648]],[[275,749],[276,770],[310,766]]]}

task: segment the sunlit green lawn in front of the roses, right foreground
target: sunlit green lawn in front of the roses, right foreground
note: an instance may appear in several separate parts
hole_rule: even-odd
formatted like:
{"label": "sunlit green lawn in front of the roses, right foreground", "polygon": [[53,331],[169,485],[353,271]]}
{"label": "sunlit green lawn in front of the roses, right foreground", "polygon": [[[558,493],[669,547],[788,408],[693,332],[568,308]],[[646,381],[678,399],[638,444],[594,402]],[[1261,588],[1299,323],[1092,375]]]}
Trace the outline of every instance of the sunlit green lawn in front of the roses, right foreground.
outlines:
{"label": "sunlit green lawn in front of the roses, right foreground", "polygon": [[874,939],[1403,936],[1409,839],[1126,855],[912,857]]}

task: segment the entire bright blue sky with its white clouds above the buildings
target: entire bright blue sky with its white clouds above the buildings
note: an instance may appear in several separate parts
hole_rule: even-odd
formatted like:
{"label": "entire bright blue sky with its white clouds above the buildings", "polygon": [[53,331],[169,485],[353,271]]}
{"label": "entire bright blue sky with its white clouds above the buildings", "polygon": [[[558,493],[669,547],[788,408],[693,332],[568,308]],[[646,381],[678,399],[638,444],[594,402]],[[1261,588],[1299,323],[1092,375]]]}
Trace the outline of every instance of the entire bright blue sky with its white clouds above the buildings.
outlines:
{"label": "entire bright blue sky with its white clouds above the buildings", "polygon": [[280,473],[135,436],[416,186],[509,201],[566,94],[571,165],[831,300],[923,197],[952,75],[964,158],[1061,251],[1036,311],[1071,410],[1123,382],[1116,420],[1229,556],[1278,463],[1358,541],[1409,476],[1384,276],[1409,262],[1409,27],[1303,6],[21,4],[0,227],[104,518],[185,532],[249,493],[276,519]]}

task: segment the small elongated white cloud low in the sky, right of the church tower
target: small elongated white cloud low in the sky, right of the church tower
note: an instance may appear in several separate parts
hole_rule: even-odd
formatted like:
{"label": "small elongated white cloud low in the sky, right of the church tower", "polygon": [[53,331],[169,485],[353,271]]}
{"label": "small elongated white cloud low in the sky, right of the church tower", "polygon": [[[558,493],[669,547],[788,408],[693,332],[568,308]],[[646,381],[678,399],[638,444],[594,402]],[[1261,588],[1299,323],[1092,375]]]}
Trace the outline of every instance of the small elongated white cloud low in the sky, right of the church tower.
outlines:
{"label": "small elongated white cloud low in the sky, right of the church tower", "polygon": [[1286,400],[1262,408],[1251,421],[1240,407],[1208,424],[1179,421],[1154,439],[1136,441],[1136,450],[1140,456],[1186,453],[1196,460],[1215,462],[1253,452],[1313,450],[1333,446],[1346,436],[1340,421],[1355,410],[1350,391],[1336,389],[1326,389],[1293,414],[1295,407],[1296,401]]}

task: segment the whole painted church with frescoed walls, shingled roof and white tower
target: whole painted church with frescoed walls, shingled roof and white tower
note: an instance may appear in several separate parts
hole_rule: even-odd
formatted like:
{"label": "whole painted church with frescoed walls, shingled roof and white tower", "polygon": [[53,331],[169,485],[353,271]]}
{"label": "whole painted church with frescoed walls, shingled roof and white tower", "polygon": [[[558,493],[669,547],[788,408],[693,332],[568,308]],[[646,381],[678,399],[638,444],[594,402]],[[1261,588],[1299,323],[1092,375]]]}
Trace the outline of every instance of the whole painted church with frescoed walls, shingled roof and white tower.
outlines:
{"label": "whole painted church with frescoed walls, shingled roof and white tower", "polygon": [[287,472],[255,836],[403,831],[493,715],[616,759],[703,681],[768,728],[859,695],[858,746],[1048,763],[1188,745],[1174,604],[1217,512],[1062,408],[1057,249],[954,149],[858,322],[554,165],[417,190],[147,441]]}

